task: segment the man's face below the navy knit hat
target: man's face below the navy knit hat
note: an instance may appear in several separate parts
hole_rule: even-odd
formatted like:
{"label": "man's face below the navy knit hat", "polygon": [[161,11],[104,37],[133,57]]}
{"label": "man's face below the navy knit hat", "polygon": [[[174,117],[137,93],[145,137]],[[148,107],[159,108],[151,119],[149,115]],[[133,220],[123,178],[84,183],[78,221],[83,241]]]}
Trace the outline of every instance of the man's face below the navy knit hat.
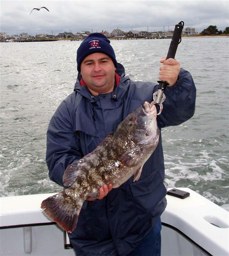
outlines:
{"label": "man's face below the navy knit hat", "polygon": [[115,65],[104,53],[88,55],[81,64],[81,75],[92,95],[112,92],[115,83]]}

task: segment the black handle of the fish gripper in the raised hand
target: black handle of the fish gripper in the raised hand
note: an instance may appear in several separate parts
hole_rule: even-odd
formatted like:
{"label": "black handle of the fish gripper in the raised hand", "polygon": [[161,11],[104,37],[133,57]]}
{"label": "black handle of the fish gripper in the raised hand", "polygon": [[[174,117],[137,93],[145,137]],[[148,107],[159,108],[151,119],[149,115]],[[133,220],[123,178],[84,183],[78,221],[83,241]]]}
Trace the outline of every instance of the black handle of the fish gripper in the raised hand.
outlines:
{"label": "black handle of the fish gripper in the raised hand", "polygon": [[[168,51],[166,60],[169,58],[172,58],[172,59],[175,58],[177,47],[181,42],[181,32],[183,28],[184,28],[183,21],[175,25],[175,29],[172,35],[172,40],[169,46],[169,51]],[[165,91],[166,86],[169,85],[166,81],[157,81],[157,83],[159,83],[158,89],[161,89],[163,91]]]}

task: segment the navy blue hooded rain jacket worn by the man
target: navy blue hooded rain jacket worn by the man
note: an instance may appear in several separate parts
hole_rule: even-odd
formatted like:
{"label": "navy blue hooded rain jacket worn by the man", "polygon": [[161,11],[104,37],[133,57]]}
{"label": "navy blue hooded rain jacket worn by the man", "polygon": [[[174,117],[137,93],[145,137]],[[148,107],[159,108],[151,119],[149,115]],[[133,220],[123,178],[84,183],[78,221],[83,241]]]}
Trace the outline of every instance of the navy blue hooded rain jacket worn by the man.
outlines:
{"label": "navy blue hooded rain jacket worn by the man", "polygon": [[[143,102],[152,102],[157,84],[131,81],[121,64],[116,73],[121,78],[115,90],[94,97],[80,84],[78,75],[74,92],[64,99],[50,120],[46,161],[50,179],[61,186],[70,163],[92,152]],[[165,95],[163,111],[157,117],[160,131],[193,116],[196,89],[190,73],[181,69],[179,81],[167,87]],[[102,200],[85,201],[77,227],[69,234],[77,256],[126,256],[133,251],[165,210],[164,174],[160,134],[159,144],[143,166],[140,180],[133,182],[131,177]]]}

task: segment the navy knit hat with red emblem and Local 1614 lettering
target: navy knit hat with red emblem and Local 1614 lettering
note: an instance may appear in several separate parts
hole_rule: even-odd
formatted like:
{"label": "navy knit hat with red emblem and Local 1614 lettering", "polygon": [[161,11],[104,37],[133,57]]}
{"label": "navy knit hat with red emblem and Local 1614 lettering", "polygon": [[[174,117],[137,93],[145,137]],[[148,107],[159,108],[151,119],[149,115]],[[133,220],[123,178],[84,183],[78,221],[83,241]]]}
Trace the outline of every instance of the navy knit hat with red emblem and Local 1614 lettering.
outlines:
{"label": "navy knit hat with red emblem and Local 1614 lettering", "polygon": [[108,55],[114,62],[117,68],[117,61],[115,58],[115,52],[110,45],[110,40],[102,33],[92,33],[87,36],[77,50],[77,70],[81,71],[82,61],[90,54],[101,52]]}

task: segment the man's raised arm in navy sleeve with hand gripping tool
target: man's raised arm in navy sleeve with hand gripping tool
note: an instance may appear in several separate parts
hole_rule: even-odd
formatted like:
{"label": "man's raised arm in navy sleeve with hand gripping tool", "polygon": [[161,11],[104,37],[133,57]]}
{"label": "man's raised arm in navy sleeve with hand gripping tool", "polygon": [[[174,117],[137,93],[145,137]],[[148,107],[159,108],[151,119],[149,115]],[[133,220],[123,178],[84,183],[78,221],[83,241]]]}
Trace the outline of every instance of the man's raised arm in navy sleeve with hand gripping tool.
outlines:
{"label": "man's raised arm in navy sleeve with hand gripping tool", "polygon": [[[160,61],[159,79],[167,81],[166,99],[163,110],[157,118],[159,127],[179,125],[194,115],[196,88],[191,74],[180,69],[180,63],[174,59]],[[154,89],[157,90],[157,87]]]}

